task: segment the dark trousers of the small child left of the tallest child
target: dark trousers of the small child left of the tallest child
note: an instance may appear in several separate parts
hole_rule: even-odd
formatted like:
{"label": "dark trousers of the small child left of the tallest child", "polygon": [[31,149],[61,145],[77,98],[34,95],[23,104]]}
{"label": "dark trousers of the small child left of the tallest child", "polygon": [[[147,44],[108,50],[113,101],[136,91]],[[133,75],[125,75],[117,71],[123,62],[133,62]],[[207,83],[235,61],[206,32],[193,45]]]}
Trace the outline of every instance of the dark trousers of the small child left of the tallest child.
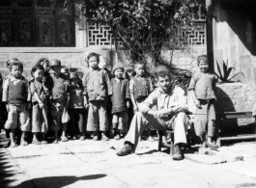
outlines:
{"label": "dark trousers of the small child left of the tallest child", "polygon": [[71,134],[77,133],[77,126],[80,133],[85,132],[85,110],[84,109],[70,109],[71,115]]}

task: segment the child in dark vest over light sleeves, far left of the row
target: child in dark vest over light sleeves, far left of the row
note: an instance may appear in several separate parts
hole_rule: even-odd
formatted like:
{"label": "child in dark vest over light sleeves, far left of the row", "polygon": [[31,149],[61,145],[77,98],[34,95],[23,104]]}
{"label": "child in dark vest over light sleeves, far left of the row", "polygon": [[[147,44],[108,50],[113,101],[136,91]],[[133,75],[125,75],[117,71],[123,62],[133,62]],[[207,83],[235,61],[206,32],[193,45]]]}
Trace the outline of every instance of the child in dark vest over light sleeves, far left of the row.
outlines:
{"label": "child in dark vest over light sleeves, far left of the row", "polygon": [[27,146],[26,132],[30,131],[29,108],[31,93],[29,83],[21,74],[23,65],[18,60],[12,61],[9,66],[11,74],[5,80],[3,86],[3,102],[6,103],[8,118],[5,128],[10,129],[11,148],[17,147],[15,143],[15,128],[22,131],[20,145]]}

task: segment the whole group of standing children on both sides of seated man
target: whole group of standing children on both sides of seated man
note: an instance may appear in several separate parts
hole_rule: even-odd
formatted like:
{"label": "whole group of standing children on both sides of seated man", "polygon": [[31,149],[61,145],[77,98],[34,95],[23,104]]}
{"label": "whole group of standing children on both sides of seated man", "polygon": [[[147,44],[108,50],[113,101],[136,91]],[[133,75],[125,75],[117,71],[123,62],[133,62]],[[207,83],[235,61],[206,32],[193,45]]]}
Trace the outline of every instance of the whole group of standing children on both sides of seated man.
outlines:
{"label": "whole group of standing children on both sides of seated man", "polygon": [[[208,64],[206,57],[198,60],[200,68]],[[71,138],[78,139],[79,135],[79,140],[86,139],[86,131],[93,132],[94,141],[107,141],[108,136],[119,140],[126,135],[133,112],[138,111],[141,103],[154,91],[152,80],[146,76],[145,65],[136,62],[133,68],[125,71],[122,64],[116,64],[112,72],[106,71],[99,67],[100,57],[94,52],[88,55],[87,61],[89,69],[81,78],[76,72],[68,72],[67,67],[62,68],[59,60],[40,59],[31,69],[31,81],[22,76],[23,65],[19,60],[7,62],[10,74],[3,78],[2,101],[8,113],[5,128],[10,130],[10,147],[17,147],[16,127],[22,132],[21,146],[28,145],[28,131],[33,132],[32,143],[37,145],[47,144],[48,131],[54,132],[54,144],[68,141],[67,128]],[[193,76],[189,90],[198,109],[203,108],[211,115],[209,121],[200,121],[200,128],[196,129],[204,142],[206,129],[210,138],[214,136],[215,96],[206,88],[209,84],[214,85],[215,77],[208,73],[208,67],[201,68],[201,72]],[[205,90],[200,90],[204,87]],[[111,119],[110,126],[108,121]],[[106,134],[108,130],[110,134]],[[212,139],[208,144],[214,147]]]}

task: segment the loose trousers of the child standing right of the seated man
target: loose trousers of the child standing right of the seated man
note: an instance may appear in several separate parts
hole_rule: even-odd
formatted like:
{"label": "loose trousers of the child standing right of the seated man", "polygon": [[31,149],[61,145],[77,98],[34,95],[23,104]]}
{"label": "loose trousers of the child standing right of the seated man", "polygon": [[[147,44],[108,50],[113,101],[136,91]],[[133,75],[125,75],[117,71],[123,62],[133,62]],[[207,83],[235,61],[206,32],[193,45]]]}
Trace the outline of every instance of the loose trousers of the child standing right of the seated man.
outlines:
{"label": "loose trousers of the child standing right of the seated man", "polygon": [[197,136],[203,136],[205,131],[209,137],[215,135],[215,110],[213,102],[209,100],[200,100],[201,109],[196,108],[195,114],[207,114],[207,115],[195,115],[194,128]]}

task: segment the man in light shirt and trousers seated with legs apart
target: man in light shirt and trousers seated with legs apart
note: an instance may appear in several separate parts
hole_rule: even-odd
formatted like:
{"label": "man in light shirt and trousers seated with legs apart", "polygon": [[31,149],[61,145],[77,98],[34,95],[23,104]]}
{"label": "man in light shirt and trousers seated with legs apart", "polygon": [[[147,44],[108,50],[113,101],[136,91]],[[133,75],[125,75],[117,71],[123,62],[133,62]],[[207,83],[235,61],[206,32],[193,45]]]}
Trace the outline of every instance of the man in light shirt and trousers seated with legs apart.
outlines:
{"label": "man in light shirt and trousers seated with legs apart", "polygon": [[[186,144],[186,128],[189,123],[185,114],[187,111],[185,91],[179,86],[172,85],[171,75],[166,71],[167,67],[159,69],[161,71],[156,71],[158,87],[147,97],[139,112],[134,114],[125,147],[117,152],[118,156],[134,152],[139,137],[150,122],[156,130],[174,130],[173,160],[183,159],[181,146]],[[151,110],[154,105],[157,111]]]}

